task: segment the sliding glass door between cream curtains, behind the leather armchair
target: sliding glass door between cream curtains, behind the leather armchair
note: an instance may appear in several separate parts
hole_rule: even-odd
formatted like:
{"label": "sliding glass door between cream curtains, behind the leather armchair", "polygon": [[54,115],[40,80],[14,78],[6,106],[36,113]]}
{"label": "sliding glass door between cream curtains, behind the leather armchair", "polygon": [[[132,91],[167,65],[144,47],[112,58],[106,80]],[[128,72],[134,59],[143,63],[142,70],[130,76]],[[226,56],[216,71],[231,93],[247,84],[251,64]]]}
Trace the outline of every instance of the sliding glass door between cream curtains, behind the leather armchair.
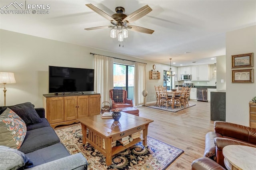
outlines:
{"label": "sliding glass door between cream curtains, behind the leather armchair", "polygon": [[134,99],[134,66],[114,63],[114,89],[124,89]]}

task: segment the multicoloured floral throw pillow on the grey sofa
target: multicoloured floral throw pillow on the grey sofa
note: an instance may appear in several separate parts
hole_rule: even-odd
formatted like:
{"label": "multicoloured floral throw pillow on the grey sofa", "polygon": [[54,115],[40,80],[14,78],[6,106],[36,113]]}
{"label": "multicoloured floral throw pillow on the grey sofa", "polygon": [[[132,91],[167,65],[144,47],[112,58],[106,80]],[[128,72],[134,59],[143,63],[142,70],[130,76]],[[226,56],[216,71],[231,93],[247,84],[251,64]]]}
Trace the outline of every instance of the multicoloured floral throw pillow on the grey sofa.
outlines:
{"label": "multicoloured floral throw pillow on the grey sofa", "polygon": [[20,148],[27,133],[25,122],[11,109],[0,115],[0,145]]}

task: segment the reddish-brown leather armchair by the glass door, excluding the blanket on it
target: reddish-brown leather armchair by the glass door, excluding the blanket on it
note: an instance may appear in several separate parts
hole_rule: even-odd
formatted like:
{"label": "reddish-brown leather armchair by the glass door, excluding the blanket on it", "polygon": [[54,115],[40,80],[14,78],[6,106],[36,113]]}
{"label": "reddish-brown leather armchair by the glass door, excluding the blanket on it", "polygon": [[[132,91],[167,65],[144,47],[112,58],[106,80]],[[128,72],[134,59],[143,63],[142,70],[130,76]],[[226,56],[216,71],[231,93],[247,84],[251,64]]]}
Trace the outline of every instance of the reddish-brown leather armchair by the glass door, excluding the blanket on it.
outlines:
{"label": "reddish-brown leather armchair by the glass door, excluding the blanket on it", "polygon": [[127,99],[127,91],[123,89],[123,102],[122,103],[115,103],[113,99],[113,89],[110,89],[109,96],[111,99],[112,109],[117,107],[133,107],[132,100]]}

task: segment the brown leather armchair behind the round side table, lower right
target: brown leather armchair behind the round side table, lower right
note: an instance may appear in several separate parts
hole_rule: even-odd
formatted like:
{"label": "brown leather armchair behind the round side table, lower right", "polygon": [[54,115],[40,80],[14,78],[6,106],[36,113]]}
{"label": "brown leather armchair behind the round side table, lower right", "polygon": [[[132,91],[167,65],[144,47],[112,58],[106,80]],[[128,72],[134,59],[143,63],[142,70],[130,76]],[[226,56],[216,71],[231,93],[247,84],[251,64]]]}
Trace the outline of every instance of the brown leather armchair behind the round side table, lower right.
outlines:
{"label": "brown leather armchair behind the round side table, lower right", "polygon": [[[208,132],[205,136],[204,157],[210,158],[223,168],[226,168],[224,165],[222,149],[227,145],[245,145],[256,147],[256,128],[223,121],[215,121],[214,132]],[[194,162],[192,162],[192,169],[208,170],[209,167],[214,168],[216,164],[212,160],[207,159],[206,161],[203,158],[194,160]],[[212,166],[210,166],[211,164]],[[204,169],[204,167],[208,168]]]}

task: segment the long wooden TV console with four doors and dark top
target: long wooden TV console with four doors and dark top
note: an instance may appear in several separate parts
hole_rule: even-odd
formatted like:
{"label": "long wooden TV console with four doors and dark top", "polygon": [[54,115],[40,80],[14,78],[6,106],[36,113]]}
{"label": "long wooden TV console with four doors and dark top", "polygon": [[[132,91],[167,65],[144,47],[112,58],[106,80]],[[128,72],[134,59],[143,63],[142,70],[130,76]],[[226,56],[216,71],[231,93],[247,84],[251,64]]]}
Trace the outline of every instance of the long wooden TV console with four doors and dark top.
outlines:
{"label": "long wooden TV console with four doors and dark top", "polygon": [[100,114],[99,93],[44,94],[43,96],[46,119],[52,128],[78,123],[77,119]]}

